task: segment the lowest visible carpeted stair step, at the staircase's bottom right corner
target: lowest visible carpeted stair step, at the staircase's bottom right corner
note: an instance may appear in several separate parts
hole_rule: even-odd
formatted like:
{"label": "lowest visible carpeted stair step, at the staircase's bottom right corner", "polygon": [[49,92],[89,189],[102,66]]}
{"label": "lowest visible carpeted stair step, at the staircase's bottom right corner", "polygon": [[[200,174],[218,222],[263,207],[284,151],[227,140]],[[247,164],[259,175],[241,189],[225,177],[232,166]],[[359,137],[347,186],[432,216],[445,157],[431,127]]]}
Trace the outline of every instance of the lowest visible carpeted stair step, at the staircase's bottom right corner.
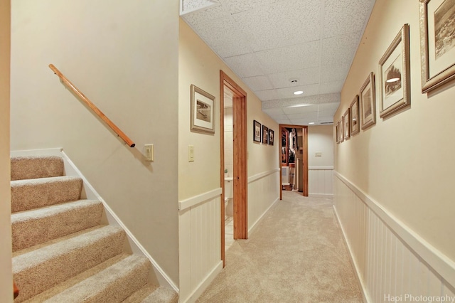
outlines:
{"label": "lowest visible carpeted stair step, at the staircase's bottom right corner", "polygon": [[178,294],[167,287],[144,285],[137,292],[125,299],[122,303],[177,303]]}

